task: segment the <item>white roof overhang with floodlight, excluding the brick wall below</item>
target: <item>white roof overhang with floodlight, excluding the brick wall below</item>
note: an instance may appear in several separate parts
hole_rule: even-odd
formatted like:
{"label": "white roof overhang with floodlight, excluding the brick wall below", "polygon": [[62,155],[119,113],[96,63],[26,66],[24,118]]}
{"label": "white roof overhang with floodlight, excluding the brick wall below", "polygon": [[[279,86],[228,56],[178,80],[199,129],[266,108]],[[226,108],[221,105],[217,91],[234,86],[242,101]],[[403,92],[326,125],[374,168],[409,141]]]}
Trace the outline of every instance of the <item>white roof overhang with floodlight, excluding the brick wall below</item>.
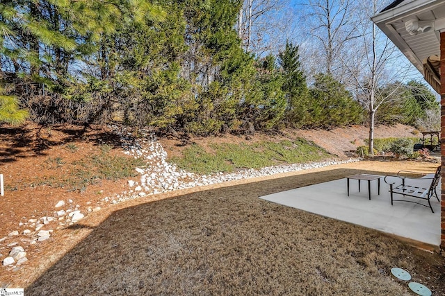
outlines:
{"label": "white roof overhang with floodlight, excluding the brick wall below", "polygon": [[373,22],[439,92],[440,32],[445,32],[444,0],[396,0]]}

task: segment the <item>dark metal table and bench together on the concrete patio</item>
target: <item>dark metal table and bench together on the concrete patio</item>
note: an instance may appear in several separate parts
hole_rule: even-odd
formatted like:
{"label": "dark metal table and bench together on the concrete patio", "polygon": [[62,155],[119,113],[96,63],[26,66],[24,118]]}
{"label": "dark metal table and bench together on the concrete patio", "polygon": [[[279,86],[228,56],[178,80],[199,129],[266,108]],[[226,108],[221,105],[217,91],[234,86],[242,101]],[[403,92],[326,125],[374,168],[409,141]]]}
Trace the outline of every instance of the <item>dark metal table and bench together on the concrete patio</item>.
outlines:
{"label": "dark metal table and bench together on the concrete patio", "polygon": [[[439,197],[437,195],[436,187],[439,184],[440,179],[440,169],[439,166],[435,173],[423,175],[420,178],[414,177],[405,177],[402,174],[405,173],[416,173],[411,171],[399,171],[397,175],[366,175],[366,174],[356,174],[350,175],[346,177],[346,186],[348,188],[348,196],[349,196],[349,180],[358,180],[359,184],[359,192],[360,192],[360,182],[362,180],[368,182],[368,195],[369,200],[371,200],[371,182],[377,180],[378,186],[378,194],[380,195],[380,178],[384,178],[385,183],[389,185],[389,193],[391,194],[391,205],[394,202],[413,202],[415,204],[421,204],[424,207],[429,207],[434,213],[434,210],[431,207],[430,199],[435,196],[438,201]],[[395,199],[394,195],[399,196],[399,199]],[[414,199],[418,199],[414,200]],[[426,202],[422,202],[422,200],[426,200]]]}

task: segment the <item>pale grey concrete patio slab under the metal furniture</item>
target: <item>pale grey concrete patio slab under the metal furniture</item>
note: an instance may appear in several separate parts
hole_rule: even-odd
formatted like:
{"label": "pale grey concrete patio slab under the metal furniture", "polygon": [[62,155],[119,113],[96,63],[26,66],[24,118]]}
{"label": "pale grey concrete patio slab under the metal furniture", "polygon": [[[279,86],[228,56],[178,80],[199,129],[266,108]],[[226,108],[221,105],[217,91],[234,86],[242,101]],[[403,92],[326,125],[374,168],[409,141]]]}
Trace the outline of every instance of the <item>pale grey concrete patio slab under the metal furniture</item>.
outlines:
{"label": "pale grey concrete patio slab under the metal furniture", "polygon": [[[424,184],[425,181],[421,182]],[[426,182],[428,183],[430,180],[426,180]],[[440,199],[439,187],[440,185],[437,186],[437,194]],[[440,202],[435,197],[431,198],[434,214],[429,207],[422,207],[412,202],[394,202],[394,205],[391,206],[389,185],[383,182],[383,178],[380,180],[380,195],[378,195],[377,181],[371,182],[371,200],[369,200],[366,181],[362,181],[361,192],[358,192],[358,181],[350,180],[350,196],[348,197],[346,178],[265,195],[260,198],[321,216],[377,229],[380,232],[406,238],[422,247],[439,250],[441,242]],[[394,199],[396,198],[401,198],[401,195],[394,195]],[[412,200],[419,201],[418,199]],[[420,201],[426,202],[426,200]]]}

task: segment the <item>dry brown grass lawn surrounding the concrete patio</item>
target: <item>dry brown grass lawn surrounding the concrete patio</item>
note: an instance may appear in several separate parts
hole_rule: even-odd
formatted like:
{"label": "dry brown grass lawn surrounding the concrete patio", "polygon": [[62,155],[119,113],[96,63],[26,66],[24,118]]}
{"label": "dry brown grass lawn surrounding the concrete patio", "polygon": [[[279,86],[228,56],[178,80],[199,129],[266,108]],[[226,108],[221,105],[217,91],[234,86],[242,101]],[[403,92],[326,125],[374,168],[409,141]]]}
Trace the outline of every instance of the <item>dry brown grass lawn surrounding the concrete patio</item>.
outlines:
{"label": "dry brown grass lawn surrounding the concrete patio", "polygon": [[[387,169],[366,163],[368,172]],[[444,295],[441,255],[258,198],[356,173],[351,167],[135,203],[97,225],[86,219],[73,227],[88,229],[86,238],[25,294],[410,295],[390,275],[398,266]]]}

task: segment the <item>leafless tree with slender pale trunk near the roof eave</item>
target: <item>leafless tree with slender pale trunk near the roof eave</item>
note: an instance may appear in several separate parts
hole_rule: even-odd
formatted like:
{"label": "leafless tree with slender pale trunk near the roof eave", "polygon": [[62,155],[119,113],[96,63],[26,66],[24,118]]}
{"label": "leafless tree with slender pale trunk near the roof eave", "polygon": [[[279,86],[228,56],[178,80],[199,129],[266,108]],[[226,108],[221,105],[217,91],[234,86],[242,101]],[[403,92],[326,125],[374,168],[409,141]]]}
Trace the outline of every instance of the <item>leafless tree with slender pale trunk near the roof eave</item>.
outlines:
{"label": "leafless tree with slender pale trunk near the roof eave", "polygon": [[[371,21],[371,17],[384,5],[382,2],[363,0],[357,3],[362,19],[356,24],[355,31],[361,37],[349,46],[348,55],[340,57],[353,81],[357,100],[369,114],[370,155],[373,155],[374,148],[375,112],[383,103],[398,99],[403,81],[412,71],[410,63]],[[391,88],[385,87],[387,85]]]}

